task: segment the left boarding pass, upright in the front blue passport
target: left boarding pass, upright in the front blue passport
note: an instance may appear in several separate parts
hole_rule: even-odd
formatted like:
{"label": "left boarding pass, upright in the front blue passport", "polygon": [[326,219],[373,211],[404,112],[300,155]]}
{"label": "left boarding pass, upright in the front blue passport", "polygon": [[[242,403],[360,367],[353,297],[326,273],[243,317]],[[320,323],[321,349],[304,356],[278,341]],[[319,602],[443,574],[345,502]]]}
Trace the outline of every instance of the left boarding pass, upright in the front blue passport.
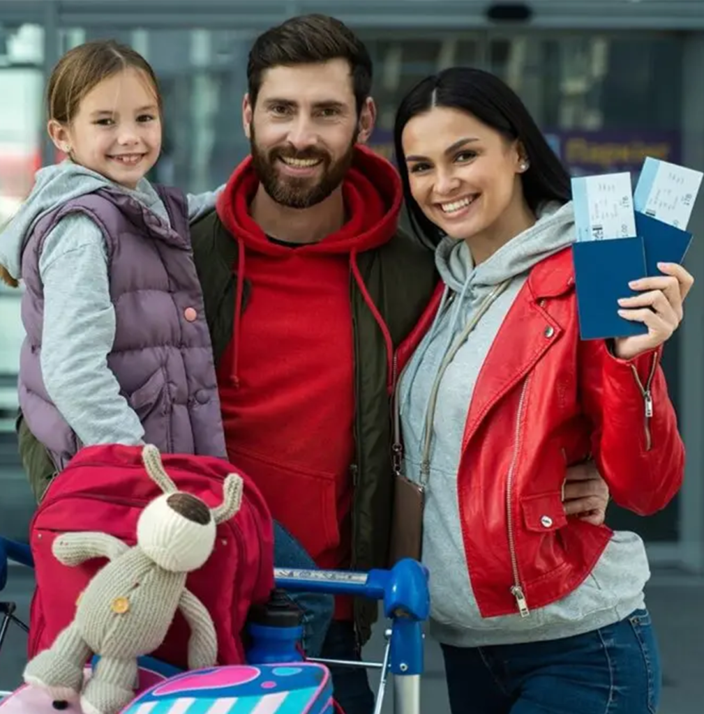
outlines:
{"label": "left boarding pass, upright in the front blue passport", "polygon": [[630,174],[572,178],[577,241],[635,236]]}

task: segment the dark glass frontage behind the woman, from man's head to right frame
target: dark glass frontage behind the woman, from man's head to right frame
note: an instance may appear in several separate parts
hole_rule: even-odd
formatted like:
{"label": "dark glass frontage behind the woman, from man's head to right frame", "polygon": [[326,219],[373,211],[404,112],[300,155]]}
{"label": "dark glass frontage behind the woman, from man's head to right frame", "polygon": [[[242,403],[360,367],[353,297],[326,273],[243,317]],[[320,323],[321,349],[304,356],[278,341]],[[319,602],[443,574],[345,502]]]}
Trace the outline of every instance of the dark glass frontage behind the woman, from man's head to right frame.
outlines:
{"label": "dark glass frontage behind the woman, from man's head to right frame", "polygon": [[682,44],[674,35],[362,36],[375,61],[375,141],[385,153],[402,96],[423,76],[459,64],[512,86],[575,174],[635,174],[647,154],[681,160]]}

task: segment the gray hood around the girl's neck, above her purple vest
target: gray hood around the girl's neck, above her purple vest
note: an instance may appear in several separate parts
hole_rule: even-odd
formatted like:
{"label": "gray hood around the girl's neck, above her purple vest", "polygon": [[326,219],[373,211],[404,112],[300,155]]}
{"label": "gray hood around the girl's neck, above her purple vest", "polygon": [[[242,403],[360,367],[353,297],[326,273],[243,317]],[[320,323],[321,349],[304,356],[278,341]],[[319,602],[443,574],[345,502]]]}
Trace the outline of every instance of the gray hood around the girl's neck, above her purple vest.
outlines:
{"label": "gray hood around the girl's neck, above her purple vest", "polygon": [[144,178],[135,191],[129,191],[69,159],[61,164],[46,166],[36,172],[31,193],[0,232],[0,266],[6,268],[15,280],[21,278],[22,249],[37,221],[64,203],[99,188],[126,191],[147,207],[151,207],[155,199],[158,200],[157,193]]}

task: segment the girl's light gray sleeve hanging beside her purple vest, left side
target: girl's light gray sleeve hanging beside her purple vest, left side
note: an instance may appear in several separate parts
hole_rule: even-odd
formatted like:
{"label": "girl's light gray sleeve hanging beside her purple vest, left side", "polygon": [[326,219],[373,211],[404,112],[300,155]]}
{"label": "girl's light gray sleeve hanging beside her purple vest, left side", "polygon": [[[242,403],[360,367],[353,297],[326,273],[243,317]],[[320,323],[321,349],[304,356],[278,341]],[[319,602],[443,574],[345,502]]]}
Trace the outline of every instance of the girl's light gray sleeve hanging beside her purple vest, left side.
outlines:
{"label": "girl's light gray sleeve hanging beside her purple vest, left side", "polygon": [[137,413],[107,364],[115,340],[106,245],[83,214],[63,218],[39,259],[44,283],[41,375],[56,408],[84,444],[142,443]]}

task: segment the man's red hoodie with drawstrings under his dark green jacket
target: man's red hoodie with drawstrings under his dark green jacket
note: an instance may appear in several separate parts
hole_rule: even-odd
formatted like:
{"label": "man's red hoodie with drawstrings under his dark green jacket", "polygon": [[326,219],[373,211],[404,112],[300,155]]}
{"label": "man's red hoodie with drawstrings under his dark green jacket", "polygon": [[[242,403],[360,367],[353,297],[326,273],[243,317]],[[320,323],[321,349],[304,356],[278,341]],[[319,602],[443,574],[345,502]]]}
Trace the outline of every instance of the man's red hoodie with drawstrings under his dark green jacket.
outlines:
{"label": "man's red hoodie with drawstrings under his dark green jacket", "polygon": [[[350,288],[360,286],[391,348],[356,255],[393,236],[400,180],[385,159],[355,149],[342,188],[349,221],[295,248],[272,242],[249,216],[258,185],[247,159],[217,205],[238,243],[233,338],[218,373],[229,460],[254,478],[272,516],[319,567],[345,568],[355,458]],[[244,278],[251,291],[242,311]],[[336,617],[351,617],[349,603]]]}

